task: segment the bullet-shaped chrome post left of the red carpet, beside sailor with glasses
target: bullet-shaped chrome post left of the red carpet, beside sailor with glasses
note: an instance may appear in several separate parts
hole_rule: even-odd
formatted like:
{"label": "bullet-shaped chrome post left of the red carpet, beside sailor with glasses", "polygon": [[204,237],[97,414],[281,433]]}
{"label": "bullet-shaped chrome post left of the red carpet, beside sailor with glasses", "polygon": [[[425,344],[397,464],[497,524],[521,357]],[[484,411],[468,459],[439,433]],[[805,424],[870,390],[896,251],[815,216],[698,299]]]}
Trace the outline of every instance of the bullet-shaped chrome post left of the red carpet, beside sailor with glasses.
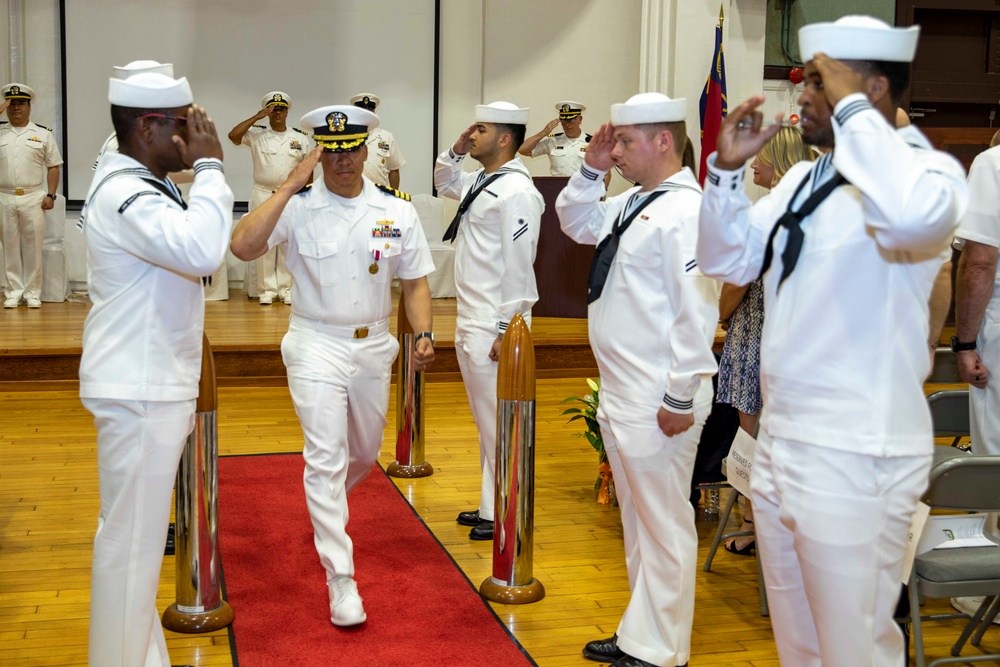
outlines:
{"label": "bullet-shaped chrome post left of the red carpet, beside sailor with glasses", "polygon": [[163,612],[163,627],[174,632],[212,632],[233,622],[220,580],[218,395],[204,335],[202,347],[194,431],[177,468],[177,602]]}

